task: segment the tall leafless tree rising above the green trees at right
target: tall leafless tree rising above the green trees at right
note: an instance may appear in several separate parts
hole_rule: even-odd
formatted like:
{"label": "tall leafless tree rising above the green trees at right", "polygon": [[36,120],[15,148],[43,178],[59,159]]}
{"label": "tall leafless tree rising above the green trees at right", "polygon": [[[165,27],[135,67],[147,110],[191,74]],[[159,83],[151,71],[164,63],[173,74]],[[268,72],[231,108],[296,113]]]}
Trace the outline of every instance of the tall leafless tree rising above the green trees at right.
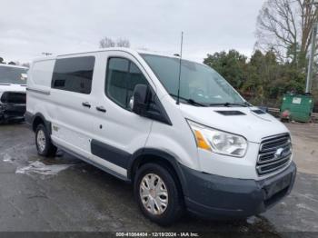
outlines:
{"label": "tall leafless tree rising above the green trees at right", "polygon": [[311,44],[317,9],[313,0],[267,0],[257,18],[256,48],[298,63]]}

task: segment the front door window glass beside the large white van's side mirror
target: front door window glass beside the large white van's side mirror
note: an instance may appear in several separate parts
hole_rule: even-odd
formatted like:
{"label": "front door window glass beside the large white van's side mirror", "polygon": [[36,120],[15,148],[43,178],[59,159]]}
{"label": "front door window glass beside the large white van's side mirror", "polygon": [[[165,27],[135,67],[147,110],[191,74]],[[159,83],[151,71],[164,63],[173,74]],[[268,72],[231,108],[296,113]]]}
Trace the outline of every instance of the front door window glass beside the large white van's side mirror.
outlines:
{"label": "front door window glass beside the large white van's side mirror", "polygon": [[106,73],[106,95],[125,109],[136,84],[148,84],[136,64],[124,58],[110,58]]}

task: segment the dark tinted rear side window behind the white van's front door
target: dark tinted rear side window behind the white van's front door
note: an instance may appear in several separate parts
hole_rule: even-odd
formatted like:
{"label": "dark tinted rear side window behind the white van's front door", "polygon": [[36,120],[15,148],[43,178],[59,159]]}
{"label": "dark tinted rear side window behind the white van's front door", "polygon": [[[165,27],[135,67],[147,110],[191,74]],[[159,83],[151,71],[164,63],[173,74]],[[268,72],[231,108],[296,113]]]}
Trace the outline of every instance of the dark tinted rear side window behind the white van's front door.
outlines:
{"label": "dark tinted rear side window behind the white van's front door", "polygon": [[94,56],[56,60],[52,88],[80,94],[91,94],[94,61]]}

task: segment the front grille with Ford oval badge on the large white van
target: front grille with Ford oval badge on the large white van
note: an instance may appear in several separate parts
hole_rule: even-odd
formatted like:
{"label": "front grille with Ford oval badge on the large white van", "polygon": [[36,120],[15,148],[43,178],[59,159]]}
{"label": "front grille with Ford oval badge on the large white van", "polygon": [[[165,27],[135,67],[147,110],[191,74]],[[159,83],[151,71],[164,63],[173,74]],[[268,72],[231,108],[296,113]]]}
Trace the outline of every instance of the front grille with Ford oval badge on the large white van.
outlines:
{"label": "front grille with Ford oval badge on the large white van", "polygon": [[292,150],[289,134],[279,134],[265,138],[261,143],[258,154],[257,174],[272,174],[286,167],[292,159]]}

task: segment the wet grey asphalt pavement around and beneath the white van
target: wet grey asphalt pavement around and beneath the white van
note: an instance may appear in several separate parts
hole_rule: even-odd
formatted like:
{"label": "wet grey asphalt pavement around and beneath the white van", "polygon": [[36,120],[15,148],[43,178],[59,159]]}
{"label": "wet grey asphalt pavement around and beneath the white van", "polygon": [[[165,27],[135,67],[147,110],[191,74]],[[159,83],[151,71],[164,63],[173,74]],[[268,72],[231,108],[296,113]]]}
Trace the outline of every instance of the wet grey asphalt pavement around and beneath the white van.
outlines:
{"label": "wet grey asphalt pavement around and beneath the white van", "polygon": [[201,236],[214,233],[214,237],[317,237],[318,125],[288,127],[296,143],[298,174],[293,192],[282,203],[246,221],[206,221],[185,214],[178,223],[163,228],[140,213],[130,184],[60,151],[53,159],[41,158],[36,154],[34,134],[25,124],[2,124],[0,233],[192,232]]}

